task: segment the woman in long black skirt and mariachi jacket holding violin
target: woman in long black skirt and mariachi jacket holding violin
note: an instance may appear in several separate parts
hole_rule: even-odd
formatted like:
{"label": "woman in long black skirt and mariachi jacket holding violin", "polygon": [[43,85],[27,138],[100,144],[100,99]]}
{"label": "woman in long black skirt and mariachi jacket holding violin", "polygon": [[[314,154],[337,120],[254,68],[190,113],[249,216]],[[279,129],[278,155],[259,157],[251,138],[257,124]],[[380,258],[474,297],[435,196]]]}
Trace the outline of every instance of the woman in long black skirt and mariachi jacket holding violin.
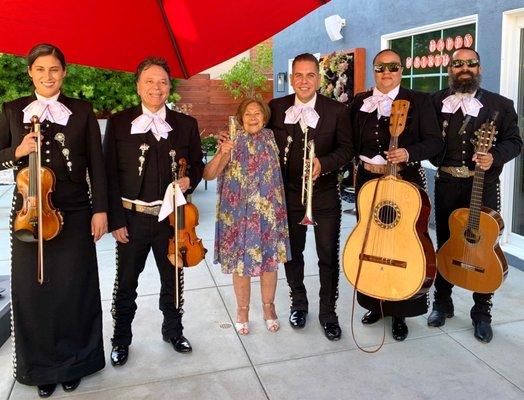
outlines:
{"label": "woman in long black skirt and mariachi jacket holding violin", "polygon": [[[41,247],[25,241],[27,237],[22,240],[15,228],[22,211],[16,215],[15,210],[22,208],[25,197],[18,190],[31,193],[31,189],[20,189],[23,185],[15,189],[10,220],[13,367],[17,381],[36,385],[41,397],[49,397],[57,383],[65,391],[75,390],[82,377],[105,365],[94,242],[107,232],[107,192],[93,109],[61,93],[64,54],[53,45],[39,44],[27,61],[35,92],[3,106],[0,165],[13,168],[15,178],[30,170],[38,174],[41,167],[52,171],[51,203],[60,211],[63,225]],[[26,169],[37,149],[38,134],[28,133],[27,127],[33,116],[41,123],[42,165]],[[29,179],[36,182],[35,177]],[[37,273],[40,250],[43,263]]]}

